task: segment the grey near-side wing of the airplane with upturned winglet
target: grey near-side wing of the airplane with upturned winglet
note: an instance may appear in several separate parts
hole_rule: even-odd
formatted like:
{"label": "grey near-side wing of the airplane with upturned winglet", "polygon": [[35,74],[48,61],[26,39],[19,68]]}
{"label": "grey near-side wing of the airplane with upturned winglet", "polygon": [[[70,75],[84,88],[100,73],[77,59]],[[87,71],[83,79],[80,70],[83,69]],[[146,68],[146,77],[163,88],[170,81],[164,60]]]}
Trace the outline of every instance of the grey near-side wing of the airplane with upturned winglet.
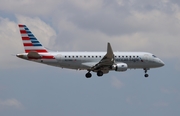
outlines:
{"label": "grey near-side wing of the airplane with upturned winglet", "polygon": [[98,71],[101,69],[103,70],[105,68],[109,68],[113,64],[114,64],[114,54],[113,54],[110,43],[108,43],[106,55],[99,61],[99,63],[91,67],[90,71]]}

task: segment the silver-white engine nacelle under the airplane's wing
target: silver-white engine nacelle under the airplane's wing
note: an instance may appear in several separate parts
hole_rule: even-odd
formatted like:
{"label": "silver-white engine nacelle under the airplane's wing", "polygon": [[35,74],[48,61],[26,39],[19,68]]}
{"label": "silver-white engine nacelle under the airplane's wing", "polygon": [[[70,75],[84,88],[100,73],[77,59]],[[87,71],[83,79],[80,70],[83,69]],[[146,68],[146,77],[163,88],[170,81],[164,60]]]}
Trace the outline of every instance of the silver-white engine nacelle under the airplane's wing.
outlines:
{"label": "silver-white engine nacelle under the airplane's wing", "polygon": [[126,71],[128,69],[128,65],[126,63],[118,63],[113,65],[113,69],[119,72]]}

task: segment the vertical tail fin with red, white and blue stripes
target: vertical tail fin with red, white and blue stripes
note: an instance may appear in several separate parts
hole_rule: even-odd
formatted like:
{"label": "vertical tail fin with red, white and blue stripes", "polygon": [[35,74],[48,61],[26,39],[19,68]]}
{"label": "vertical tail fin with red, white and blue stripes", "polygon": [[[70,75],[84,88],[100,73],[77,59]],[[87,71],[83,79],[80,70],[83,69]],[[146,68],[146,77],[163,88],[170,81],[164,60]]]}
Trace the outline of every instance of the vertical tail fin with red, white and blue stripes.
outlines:
{"label": "vertical tail fin with red, white and blue stripes", "polygon": [[48,50],[44,48],[26,25],[19,24],[19,29],[26,53],[31,51],[38,53],[46,53]]}

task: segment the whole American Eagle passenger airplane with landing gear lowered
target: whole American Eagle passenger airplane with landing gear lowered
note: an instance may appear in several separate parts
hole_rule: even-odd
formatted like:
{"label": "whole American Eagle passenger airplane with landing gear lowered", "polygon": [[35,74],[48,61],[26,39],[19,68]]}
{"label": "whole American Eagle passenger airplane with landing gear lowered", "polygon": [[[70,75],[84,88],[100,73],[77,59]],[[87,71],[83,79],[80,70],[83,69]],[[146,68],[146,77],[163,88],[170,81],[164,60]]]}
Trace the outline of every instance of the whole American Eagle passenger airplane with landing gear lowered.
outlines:
{"label": "whole American Eagle passenger airplane with landing gear lowered", "polygon": [[150,68],[164,66],[164,62],[148,52],[113,52],[111,44],[107,43],[106,52],[54,52],[46,49],[33,35],[26,25],[19,24],[25,53],[16,56],[51,66],[87,70],[86,78],[91,78],[91,72],[101,77],[109,71],[124,72],[127,69],[143,69],[145,77]]}

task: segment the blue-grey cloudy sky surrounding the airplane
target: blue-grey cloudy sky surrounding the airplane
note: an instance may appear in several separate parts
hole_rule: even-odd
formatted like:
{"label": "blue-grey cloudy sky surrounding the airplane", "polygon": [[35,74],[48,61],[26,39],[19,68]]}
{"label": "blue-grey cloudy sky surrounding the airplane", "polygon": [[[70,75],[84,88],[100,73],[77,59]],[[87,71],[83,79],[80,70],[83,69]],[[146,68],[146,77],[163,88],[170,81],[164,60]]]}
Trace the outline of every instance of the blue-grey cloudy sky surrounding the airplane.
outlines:
{"label": "blue-grey cloudy sky surrounding the airplane", "polygon": [[[16,58],[18,24],[56,51],[144,51],[165,66],[101,78]],[[0,0],[0,116],[179,116],[178,0]]]}

